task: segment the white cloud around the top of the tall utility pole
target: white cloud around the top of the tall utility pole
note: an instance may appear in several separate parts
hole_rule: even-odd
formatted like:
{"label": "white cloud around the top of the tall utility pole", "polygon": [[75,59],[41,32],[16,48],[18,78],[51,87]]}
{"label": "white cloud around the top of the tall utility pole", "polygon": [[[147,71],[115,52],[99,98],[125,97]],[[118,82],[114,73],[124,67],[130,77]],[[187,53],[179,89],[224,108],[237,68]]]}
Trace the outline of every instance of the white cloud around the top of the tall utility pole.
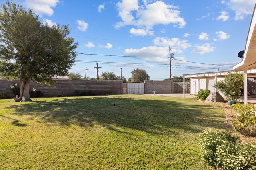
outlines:
{"label": "white cloud around the top of the tall utility pole", "polygon": [[156,37],[153,40],[154,45],[165,46],[168,47],[169,45],[172,47],[172,52],[174,53],[182,53],[182,49],[187,49],[191,47],[188,40],[180,40],[179,38],[166,38],[166,37]]}

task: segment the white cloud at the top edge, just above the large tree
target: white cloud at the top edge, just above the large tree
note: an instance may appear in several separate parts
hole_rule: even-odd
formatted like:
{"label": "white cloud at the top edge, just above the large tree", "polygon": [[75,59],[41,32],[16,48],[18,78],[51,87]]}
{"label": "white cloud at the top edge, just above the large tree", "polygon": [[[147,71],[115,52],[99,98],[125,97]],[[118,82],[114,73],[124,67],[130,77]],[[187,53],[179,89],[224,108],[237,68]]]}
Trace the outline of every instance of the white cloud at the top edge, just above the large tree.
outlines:
{"label": "white cloud at the top edge, just above the large tree", "polygon": [[31,8],[36,14],[46,14],[52,16],[53,8],[60,2],[59,0],[25,0],[24,4]]}

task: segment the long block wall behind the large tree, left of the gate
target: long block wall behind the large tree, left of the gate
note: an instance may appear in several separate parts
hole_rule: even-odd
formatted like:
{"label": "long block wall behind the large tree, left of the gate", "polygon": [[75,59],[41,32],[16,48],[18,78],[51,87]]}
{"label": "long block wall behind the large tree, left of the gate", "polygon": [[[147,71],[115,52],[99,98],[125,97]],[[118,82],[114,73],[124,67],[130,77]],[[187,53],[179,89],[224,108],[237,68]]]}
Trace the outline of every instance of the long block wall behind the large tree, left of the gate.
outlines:
{"label": "long block wall behind the large tree, left of the gate", "polygon": [[[8,81],[0,80],[0,92],[12,93],[8,88],[11,84],[20,83],[19,80]],[[56,80],[54,84],[38,84],[36,81],[30,82],[30,91],[35,88],[40,90],[44,97],[57,96],[74,96],[75,90],[92,90],[95,95],[122,94],[122,80]]]}

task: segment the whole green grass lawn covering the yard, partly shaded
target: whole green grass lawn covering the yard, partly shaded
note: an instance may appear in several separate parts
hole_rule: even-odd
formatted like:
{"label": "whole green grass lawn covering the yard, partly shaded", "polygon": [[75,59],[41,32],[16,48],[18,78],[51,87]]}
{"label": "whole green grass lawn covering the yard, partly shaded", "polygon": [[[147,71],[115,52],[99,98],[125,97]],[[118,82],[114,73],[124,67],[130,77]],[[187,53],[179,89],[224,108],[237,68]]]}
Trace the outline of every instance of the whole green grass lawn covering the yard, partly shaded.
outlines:
{"label": "whole green grass lawn covering the yard, partly shaded", "polygon": [[210,170],[197,136],[224,118],[220,104],[189,98],[0,100],[0,169]]}

